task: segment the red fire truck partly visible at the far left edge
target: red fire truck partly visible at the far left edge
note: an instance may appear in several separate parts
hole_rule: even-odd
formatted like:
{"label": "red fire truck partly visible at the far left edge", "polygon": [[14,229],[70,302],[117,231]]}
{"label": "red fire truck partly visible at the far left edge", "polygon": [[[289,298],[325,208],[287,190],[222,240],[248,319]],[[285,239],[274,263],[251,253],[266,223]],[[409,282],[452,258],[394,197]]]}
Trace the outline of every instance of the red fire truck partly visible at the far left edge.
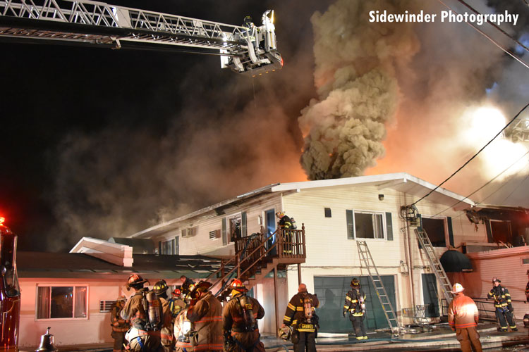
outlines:
{"label": "red fire truck partly visible at the far left edge", "polygon": [[20,287],[16,273],[16,234],[0,218],[0,351],[18,351]]}

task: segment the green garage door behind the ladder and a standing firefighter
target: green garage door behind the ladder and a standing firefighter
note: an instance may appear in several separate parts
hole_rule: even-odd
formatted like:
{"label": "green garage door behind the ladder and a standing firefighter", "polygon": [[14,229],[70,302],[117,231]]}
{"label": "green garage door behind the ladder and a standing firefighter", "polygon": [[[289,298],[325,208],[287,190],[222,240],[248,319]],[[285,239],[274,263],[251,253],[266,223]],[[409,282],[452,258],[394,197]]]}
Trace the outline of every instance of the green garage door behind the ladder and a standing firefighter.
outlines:
{"label": "green garage door behind the ladder and a standing firefighter", "polygon": [[[351,321],[346,315],[343,318],[343,303],[347,291],[351,289],[351,276],[315,276],[315,294],[320,299],[320,308],[316,314],[320,317],[320,332],[352,332]],[[367,329],[381,329],[389,327],[377,292],[368,276],[358,277],[366,297]],[[395,281],[392,275],[381,276],[382,283],[389,296],[389,301],[395,306]]]}

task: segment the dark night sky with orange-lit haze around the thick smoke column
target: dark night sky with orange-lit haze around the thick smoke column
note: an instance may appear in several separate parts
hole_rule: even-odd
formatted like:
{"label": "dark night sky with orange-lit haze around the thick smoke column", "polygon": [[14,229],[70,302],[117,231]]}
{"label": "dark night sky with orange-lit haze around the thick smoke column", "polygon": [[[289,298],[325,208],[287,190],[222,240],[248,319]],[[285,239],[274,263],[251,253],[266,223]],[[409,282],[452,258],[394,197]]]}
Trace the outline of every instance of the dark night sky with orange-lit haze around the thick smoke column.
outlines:
{"label": "dark night sky with orange-lit haze around the thick smoke column", "polygon": [[[266,184],[307,180],[299,163],[305,132],[298,117],[311,99],[324,100],[315,67],[316,77],[326,80],[336,69],[318,75],[327,63],[315,49],[310,18],[333,3],[109,1],[233,25],[241,25],[245,15],[259,24],[262,13],[274,9],[285,66],[255,79],[221,70],[217,56],[0,42],[0,213],[20,235],[19,248],[68,251],[83,236],[126,236]],[[372,4],[393,8],[396,1]],[[426,7],[435,12],[440,6],[431,1]],[[526,6],[521,11],[529,16]],[[346,33],[354,16],[344,23]],[[400,100],[387,124],[386,157],[366,172],[409,172],[438,183],[476,150],[439,151],[450,139],[449,127],[467,128],[446,114],[455,114],[451,109],[457,107],[461,115],[463,108],[492,101],[510,119],[528,102],[529,70],[520,70],[464,24],[408,30],[415,31],[413,40],[396,40],[413,50],[391,60]],[[336,20],[331,33],[339,31]],[[526,32],[522,22],[513,33],[525,38]],[[528,54],[524,57],[529,61]],[[356,70],[370,56],[364,59],[355,61]],[[465,180],[447,188],[466,195],[491,178],[478,174],[475,165]],[[528,199],[526,176],[527,171],[504,180],[503,192],[514,190],[521,193],[518,199]],[[522,205],[509,198],[504,203],[513,202]]]}

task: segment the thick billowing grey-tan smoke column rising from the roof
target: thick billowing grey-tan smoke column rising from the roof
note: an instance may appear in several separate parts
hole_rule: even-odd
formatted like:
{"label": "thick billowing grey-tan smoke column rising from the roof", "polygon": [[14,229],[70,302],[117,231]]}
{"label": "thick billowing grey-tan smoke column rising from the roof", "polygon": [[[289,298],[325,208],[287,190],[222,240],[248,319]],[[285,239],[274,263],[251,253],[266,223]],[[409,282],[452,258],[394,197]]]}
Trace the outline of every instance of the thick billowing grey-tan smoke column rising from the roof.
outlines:
{"label": "thick billowing grey-tan smoke column rising from the roof", "polygon": [[340,0],[315,13],[318,99],[299,118],[305,137],[301,163],[310,180],[362,175],[384,156],[385,124],[396,113],[396,70],[418,50],[406,23],[367,21],[369,11],[403,12],[404,1]]}

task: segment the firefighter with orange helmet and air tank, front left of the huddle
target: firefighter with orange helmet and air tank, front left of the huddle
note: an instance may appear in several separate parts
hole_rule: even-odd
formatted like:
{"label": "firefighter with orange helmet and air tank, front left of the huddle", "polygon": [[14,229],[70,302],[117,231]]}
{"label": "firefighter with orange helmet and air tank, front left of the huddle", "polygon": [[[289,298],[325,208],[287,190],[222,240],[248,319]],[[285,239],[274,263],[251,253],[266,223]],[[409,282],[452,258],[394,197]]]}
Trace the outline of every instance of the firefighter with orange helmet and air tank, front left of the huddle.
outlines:
{"label": "firefighter with orange helmet and air tank, front left of the huddle", "polygon": [[[130,329],[125,335],[131,352],[159,351],[160,325],[162,319],[162,303],[153,291],[143,287],[147,282],[140,275],[128,277],[127,289],[132,288],[135,294],[130,297],[125,308],[121,310],[121,318],[130,320]],[[145,309],[147,307],[147,310]]]}

